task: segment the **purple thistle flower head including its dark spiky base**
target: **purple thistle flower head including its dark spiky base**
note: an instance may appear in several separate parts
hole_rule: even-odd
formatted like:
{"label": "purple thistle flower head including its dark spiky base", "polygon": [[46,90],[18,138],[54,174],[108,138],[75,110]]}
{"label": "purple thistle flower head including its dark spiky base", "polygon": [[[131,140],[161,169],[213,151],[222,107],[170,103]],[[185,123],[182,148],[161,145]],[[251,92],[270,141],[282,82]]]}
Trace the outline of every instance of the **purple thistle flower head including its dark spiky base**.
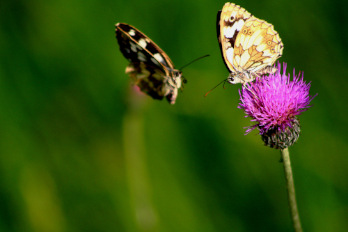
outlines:
{"label": "purple thistle flower head including its dark spiky base", "polygon": [[238,108],[244,109],[255,125],[248,127],[246,134],[258,128],[265,145],[284,149],[299,137],[300,124],[296,116],[306,111],[315,96],[309,95],[310,83],[303,80],[303,73],[286,74],[286,64],[278,63],[278,71],[256,78],[239,91]]}

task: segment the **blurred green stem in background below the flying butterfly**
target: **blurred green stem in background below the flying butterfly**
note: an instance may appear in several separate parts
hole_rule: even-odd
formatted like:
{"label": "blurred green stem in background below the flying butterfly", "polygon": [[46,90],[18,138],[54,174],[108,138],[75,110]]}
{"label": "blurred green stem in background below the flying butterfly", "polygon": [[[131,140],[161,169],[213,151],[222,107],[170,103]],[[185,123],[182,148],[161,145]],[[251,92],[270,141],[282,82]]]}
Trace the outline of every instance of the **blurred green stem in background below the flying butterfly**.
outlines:
{"label": "blurred green stem in background below the flying butterfly", "polygon": [[146,166],[143,112],[145,99],[133,89],[123,119],[123,149],[131,206],[139,232],[157,231],[158,220],[151,200],[151,186]]}

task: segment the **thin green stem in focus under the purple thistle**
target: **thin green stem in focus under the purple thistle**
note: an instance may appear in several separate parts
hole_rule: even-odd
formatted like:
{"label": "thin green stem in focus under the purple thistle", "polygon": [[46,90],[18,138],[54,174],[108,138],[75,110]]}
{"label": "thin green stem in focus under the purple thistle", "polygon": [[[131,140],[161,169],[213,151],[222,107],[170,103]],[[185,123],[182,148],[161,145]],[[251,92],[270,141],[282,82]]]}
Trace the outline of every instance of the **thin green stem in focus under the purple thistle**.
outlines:
{"label": "thin green stem in focus under the purple thistle", "polygon": [[292,223],[293,223],[295,232],[302,232],[300,215],[298,213],[297,203],[296,203],[294,178],[292,176],[289,149],[285,148],[281,150],[281,153],[282,153],[282,159],[284,164],[284,173],[285,173],[286,185],[288,190],[288,200],[289,200]]}

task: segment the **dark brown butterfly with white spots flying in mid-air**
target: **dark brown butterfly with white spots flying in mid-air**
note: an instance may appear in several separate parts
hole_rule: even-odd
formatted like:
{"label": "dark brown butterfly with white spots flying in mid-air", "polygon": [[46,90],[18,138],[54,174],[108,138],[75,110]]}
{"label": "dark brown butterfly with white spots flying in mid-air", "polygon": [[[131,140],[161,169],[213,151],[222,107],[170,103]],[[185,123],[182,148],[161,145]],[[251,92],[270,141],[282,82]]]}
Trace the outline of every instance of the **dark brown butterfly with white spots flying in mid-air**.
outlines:
{"label": "dark brown butterfly with white spots flying in mid-air", "polygon": [[169,56],[149,37],[126,23],[117,23],[116,39],[125,58],[130,61],[128,74],[140,90],[154,99],[166,97],[174,104],[184,81]]}

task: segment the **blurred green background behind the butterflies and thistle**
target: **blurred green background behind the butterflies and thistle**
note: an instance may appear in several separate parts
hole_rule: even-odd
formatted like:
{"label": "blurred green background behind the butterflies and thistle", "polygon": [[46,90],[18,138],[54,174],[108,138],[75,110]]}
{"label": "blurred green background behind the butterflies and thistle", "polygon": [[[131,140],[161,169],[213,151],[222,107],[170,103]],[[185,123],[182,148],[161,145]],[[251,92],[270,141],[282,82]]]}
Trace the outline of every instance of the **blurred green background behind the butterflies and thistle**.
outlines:
{"label": "blurred green background behind the butterflies and thistle", "polygon": [[[0,3],[0,231],[292,231],[280,153],[237,109],[216,39],[225,1]],[[347,231],[347,1],[238,1],[275,25],[281,62],[319,95],[290,149],[305,231]],[[114,24],[188,83],[132,94]]]}

